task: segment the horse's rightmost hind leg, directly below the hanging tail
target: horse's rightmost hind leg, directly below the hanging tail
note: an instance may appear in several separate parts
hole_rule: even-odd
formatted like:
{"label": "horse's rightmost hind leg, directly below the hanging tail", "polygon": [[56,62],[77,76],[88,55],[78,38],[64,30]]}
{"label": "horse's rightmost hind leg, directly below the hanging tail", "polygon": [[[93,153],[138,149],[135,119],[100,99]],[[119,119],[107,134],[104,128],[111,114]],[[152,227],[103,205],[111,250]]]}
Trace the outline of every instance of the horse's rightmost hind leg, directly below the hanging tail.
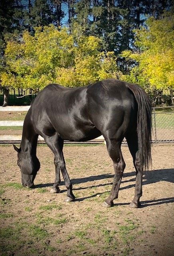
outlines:
{"label": "horse's rightmost hind leg, directly below the hanging tail", "polygon": [[136,132],[134,134],[126,136],[126,140],[136,170],[135,195],[129,206],[131,208],[138,208],[140,206],[140,197],[142,196],[143,166],[141,166],[140,156],[138,152],[138,138]]}

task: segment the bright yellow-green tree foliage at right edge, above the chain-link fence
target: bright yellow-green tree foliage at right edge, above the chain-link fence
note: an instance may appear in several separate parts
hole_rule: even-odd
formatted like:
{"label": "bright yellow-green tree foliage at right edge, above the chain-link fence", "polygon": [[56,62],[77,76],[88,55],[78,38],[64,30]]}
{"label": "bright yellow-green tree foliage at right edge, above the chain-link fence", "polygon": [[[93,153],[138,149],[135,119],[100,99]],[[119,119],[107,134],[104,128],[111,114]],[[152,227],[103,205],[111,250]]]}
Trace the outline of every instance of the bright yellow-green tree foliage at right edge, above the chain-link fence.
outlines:
{"label": "bright yellow-green tree foliage at right edge, above the chain-link fence", "polygon": [[124,51],[123,56],[133,59],[138,66],[124,78],[141,84],[148,90],[174,91],[174,14],[164,12],[160,19],[150,17],[147,28],[136,30],[136,46],[140,52]]}

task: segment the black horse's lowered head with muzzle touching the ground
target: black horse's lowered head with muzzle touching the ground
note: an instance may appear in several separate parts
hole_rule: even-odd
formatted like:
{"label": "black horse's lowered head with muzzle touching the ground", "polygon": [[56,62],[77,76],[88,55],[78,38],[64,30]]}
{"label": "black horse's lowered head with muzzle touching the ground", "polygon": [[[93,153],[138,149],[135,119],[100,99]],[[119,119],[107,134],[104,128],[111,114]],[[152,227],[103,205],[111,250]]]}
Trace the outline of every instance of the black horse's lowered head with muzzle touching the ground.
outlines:
{"label": "black horse's lowered head with muzzle touching the ground", "polygon": [[21,148],[13,146],[18,152],[17,164],[21,170],[22,186],[31,188],[34,186],[34,179],[40,168],[40,162],[36,156],[28,154],[28,152],[22,152]]}

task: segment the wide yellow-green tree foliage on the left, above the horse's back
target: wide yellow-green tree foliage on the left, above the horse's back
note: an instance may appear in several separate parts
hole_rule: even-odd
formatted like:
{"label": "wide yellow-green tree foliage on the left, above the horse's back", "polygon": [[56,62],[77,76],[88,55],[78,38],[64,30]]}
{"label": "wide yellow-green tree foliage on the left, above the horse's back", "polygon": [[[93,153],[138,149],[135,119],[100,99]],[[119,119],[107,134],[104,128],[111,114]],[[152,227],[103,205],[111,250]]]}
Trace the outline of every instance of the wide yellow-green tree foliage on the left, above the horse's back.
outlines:
{"label": "wide yellow-green tree foliage on the left, above the horse's back", "polygon": [[8,41],[3,86],[40,90],[48,83],[83,86],[109,77],[120,77],[113,52],[101,51],[100,39],[70,34],[67,28],[35,28],[34,36],[24,32],[20,41]]}

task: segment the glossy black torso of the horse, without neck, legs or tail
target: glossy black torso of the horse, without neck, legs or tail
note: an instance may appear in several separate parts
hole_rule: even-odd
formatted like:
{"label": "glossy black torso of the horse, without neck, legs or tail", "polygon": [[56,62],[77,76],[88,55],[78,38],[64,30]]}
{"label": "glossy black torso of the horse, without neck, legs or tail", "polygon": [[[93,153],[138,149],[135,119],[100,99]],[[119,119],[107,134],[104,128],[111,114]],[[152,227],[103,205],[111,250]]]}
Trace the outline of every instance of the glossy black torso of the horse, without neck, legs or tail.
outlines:
{"label": "glossy black torso of the horse, without neck, legs or tail", "polygon": [[126,83],[114,79],[80,88],[50,84],[32,104],[32,120],[40,135],[58,132],[63,139],[89,140],[107,130],[122,133],[130,125],[134,97]]}

